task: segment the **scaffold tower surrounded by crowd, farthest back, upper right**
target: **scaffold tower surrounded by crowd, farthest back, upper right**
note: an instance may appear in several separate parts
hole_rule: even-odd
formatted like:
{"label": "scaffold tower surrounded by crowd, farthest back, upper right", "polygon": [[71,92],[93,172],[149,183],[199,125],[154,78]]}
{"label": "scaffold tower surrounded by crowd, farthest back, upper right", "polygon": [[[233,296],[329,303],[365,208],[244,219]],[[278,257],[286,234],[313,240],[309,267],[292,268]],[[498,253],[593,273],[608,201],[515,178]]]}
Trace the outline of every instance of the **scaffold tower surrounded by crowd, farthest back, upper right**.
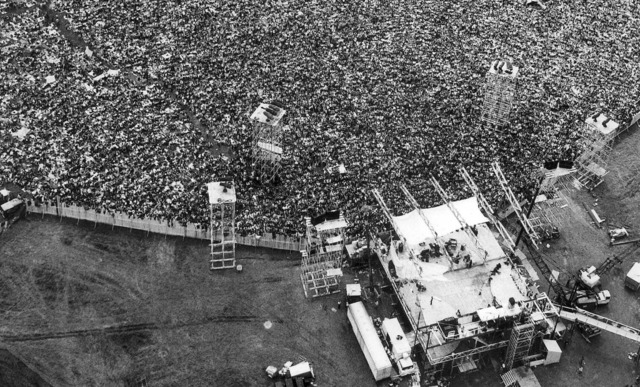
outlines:
{"label": "scaffold tower surrounded by crowd, farthest back, upper right", "polygon": [[518,67],[510,62],[491,63],[484,87],[484,102],[480,115],[482,123],[500,127],[509,122],[517,75]]}

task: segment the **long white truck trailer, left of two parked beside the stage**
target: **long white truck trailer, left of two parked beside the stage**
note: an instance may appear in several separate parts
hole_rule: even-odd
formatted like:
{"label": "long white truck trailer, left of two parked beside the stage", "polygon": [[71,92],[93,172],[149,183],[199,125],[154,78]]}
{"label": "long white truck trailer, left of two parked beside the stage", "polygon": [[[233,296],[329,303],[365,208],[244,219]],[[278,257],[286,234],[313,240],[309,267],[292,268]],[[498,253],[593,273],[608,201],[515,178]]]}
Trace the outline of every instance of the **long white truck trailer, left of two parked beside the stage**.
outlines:
{"label": "long white truck trailer, left of two parked beside the stage", "polygon": [[362,353],[367,359],[371,373],[376,381],[386,379],[391,376],[393,367],[391,360],[387,356],[387,352],[382,345],[382,341],[378,337],[376,327],[364,307],[362,302],[349,304],[347,310],[347,318],[353,328]]}

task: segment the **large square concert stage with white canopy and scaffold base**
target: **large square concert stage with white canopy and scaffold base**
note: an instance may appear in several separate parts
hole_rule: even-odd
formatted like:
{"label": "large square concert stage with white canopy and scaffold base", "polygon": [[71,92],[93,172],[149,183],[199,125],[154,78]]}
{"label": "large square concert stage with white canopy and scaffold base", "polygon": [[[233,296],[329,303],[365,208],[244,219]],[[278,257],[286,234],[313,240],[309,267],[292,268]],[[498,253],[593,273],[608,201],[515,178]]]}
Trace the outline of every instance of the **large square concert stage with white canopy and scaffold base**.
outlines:
{"label": "large square concert stage with white canopy and scaffold base", "polygon": [[[466,180],[475,186],[470,177]],[[526,271],[510,260],[513,242],[508,242],[508,233],[479,192],[458,201],[449,201],[445,194],[445,204],[414,205],[403,215],[391,214],[377,189],[373,195],[398,235],[389,244],[377,239],[376,252],[413,330],[410,341],[425,354],[427,377],[475,370],[481,356],[508,350],[510,343],[511,364],[517,365],[532,355],[536,337],[526,324],[540,330],[541,336],[553,333],[557,309],[546,294],[537,292]],[[496,231],[490,228],[494,221]],[[474,235],[467,229],[475,230]],[[496,234],[504,234],[502,245]],[[445,249],[449,257],[459,254],[459,248],[451,246],[466,245],[465,252],[477,264],[458,267],[444,254],[420,259],[437,238],[449,242]]]}

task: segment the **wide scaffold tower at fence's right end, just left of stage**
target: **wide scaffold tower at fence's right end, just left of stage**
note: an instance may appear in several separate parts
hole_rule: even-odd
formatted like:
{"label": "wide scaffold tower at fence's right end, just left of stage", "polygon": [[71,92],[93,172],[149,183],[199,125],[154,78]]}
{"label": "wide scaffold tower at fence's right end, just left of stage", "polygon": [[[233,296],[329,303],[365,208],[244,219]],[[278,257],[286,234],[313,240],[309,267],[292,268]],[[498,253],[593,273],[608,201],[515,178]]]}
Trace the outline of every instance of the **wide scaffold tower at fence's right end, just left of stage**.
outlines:
{"label": "wide scaffold tower at fence's right end, just left of stage", "polygon": [[305,297],[320,297],[340,292],[344,256],[344,232],[347,222],[342,215],[320,223],[305,218],[306,247],[302,254],[302,287]]}

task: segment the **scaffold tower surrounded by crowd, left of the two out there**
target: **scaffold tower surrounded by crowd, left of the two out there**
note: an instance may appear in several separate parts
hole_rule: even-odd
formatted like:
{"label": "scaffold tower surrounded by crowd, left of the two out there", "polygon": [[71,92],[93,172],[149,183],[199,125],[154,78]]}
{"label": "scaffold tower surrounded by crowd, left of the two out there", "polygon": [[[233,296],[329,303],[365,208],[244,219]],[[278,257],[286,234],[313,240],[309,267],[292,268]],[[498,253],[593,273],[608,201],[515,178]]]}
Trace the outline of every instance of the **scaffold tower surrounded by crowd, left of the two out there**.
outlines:
{"label": "scaffold tower surrounded by crowd, left of the two out there", "polygon": [[251,153],[256,177],[270,183],[278,175],[282,160],[282,117],[285,110],[279,102],[262,103],[251,115],[253,136]]}

